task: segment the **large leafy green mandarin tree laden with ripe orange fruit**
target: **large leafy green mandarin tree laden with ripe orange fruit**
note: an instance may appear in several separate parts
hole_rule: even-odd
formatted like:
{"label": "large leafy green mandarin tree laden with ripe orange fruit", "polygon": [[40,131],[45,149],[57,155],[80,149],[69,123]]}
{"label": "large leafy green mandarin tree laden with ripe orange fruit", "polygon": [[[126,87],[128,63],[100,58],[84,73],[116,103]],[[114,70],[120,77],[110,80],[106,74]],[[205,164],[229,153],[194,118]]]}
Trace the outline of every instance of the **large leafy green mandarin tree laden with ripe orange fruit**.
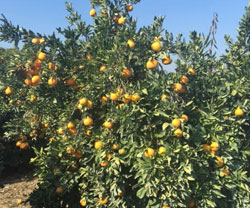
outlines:
{"label": "large leafy green mandarin tree laden with ripe orange fruit", "polygon": [[92,25],[66,3],[63,41],[2,19],[0,39],[23,42],[10,62],[26,72],[4,95],[26,92],[9,128],[48,142],[34,148],[32,206],[248,207],[249,8],[217,60],[212,32],[174,39],[163,17],[138,28],[139,0],[90,2]]}

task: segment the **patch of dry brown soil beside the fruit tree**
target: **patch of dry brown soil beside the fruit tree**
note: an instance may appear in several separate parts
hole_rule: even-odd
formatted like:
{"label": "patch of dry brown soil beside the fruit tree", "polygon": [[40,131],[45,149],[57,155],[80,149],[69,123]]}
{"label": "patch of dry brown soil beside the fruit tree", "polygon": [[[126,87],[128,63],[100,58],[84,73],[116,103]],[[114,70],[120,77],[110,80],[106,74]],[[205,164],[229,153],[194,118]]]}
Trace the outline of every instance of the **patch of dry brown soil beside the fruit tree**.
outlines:
{"label": "patch of dry brown soil beside the fruit tree", "polygon": [[[0,207],[30,208],[25,200],[36,188],[38,179],[31,170],[7,170],[0,176]],[[17,201],[22,203],[18,205]]]}

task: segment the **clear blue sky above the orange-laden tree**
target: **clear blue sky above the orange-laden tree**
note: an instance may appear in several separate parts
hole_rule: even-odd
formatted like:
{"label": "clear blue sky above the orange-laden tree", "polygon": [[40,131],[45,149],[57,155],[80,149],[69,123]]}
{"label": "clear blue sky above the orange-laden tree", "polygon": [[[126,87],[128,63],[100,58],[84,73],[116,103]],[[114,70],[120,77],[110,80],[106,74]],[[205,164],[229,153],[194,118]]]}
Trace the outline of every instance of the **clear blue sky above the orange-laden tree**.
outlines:
{"label": "clear blue sky above the orange-laden tree", "polygon": [[[89,0],[68,0],[82,15],[87,23],[92,23],[89,16]],[[236,39],[237,28],[248,0],[141,0],[134,5],[131,13],[138,20],[138,26],[150,25],[154,16],[165,16],[164,28],[174,36],[182,33],[188,38],[189,33],[196,30],[208,34],[213,15],[218,14],[218,30],[216,40],[217,54],[223,54],[226,45],[224,35]],[[14,25],[31,29],[41,34],[52,34],[57,27],[66,27],[64,0],[0,0],[0,14],[4,14]],[[0,42],[0,47],[13,45]]]}

